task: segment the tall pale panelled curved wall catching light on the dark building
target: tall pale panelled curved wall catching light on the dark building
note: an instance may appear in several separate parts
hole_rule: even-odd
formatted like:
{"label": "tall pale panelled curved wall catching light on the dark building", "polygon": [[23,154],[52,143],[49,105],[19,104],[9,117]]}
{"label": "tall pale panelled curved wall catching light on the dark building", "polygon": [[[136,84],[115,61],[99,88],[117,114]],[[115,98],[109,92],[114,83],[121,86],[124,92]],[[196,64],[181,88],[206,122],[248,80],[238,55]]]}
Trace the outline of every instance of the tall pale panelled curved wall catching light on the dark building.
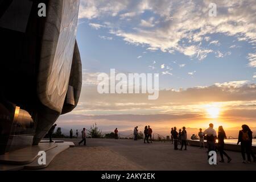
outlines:
{"label": "tall pale panelled curved wall catching light on the dark building", "polygon": [[79,1],[49,1],[42,40],[38,96],[42,104],[61,113],[68,90],[76,41]]}

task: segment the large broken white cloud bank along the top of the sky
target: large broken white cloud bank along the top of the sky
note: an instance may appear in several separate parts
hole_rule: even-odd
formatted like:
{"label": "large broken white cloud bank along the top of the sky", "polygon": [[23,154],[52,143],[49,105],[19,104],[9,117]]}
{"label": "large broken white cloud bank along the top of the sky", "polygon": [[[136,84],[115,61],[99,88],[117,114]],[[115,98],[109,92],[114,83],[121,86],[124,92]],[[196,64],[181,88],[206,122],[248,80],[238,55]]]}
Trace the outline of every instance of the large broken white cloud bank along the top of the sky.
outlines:
{"label": "large broken white cloud bank along the top of the sky", "polygon": [[[208,16],[209,3],[210,0],[81,0],[79,18],[108,20],[112,22],[110,31],[126,42],[158,48],[163,52],[178,51],[201,60],[209,52],[200,54],[200,51],[207,48],[199,42],[208,42],[213,34],[234,36],[239,41],[251,43],[256,41],[254,0],[218,2],[217,18]],[[138,19],[146,11],[151,18],[142,19],[138,24]],[[113,16],[118,16],[121,20],[117,22],[112,19]],[[126,18],[130,19],[129,26],[134,28],[125,28]],[[183,44],[182,40],[189,44]],[[214,40],[211,44],[219,43]]]}

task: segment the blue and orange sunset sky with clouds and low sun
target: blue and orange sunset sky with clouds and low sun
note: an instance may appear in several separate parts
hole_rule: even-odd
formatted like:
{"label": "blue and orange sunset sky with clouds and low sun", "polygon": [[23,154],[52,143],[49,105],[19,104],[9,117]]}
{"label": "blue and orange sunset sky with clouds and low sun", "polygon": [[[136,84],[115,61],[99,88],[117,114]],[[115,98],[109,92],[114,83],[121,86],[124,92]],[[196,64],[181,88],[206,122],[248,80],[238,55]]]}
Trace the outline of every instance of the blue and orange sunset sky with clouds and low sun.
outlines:
{"label": "blue and orange sunset sky with clouds and low sun", "polygon": [[[217,16],[210,17],[210,2]],[[77,42],[83,85],[62,127],[102,131],[151,125],[256,127],[256,3],[246,1],[80,0]],[[99,94],[97,76],[159,73],[159,98]]]}

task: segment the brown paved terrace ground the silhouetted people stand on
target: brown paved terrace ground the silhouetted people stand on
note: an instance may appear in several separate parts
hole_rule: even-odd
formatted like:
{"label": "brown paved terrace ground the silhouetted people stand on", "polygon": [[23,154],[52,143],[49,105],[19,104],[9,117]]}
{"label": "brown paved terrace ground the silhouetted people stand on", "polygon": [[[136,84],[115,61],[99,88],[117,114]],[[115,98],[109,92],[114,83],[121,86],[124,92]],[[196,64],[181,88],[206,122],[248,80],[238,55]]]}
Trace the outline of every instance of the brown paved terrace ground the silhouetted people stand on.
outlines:
{"label": "brown paved terrace ground the silhouetted people stand on", "polygon": [[[80,141],[64,140],[75,144]],[[207,149],[192,146],[187,149],[175,151],[170,142],[144,144],[143,140],[87,139],[87,146],[61,152],[44,170],[256,170],[256,163],[242,163],[240,152],[227,151],[233,159],[231,163],[210,166]]]}

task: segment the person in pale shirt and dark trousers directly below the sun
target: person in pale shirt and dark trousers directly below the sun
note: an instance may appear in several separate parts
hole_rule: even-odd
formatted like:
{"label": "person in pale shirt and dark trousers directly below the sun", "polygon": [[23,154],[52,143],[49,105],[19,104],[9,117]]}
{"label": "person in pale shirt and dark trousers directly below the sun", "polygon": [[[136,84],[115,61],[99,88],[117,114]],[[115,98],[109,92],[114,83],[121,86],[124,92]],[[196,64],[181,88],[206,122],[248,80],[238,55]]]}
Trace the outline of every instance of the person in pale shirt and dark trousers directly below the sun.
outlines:
{"label": "person in pale shirt and dark trousers directly below the sun", "polygon": [[209,152],[215,151],[215,141],[217,139],[216,131],[213,129],[213,123],[209,124],[208,129],[203,132],[203,135],[207,135],[207,147],[208,147],[208,159],[210,158]]}

